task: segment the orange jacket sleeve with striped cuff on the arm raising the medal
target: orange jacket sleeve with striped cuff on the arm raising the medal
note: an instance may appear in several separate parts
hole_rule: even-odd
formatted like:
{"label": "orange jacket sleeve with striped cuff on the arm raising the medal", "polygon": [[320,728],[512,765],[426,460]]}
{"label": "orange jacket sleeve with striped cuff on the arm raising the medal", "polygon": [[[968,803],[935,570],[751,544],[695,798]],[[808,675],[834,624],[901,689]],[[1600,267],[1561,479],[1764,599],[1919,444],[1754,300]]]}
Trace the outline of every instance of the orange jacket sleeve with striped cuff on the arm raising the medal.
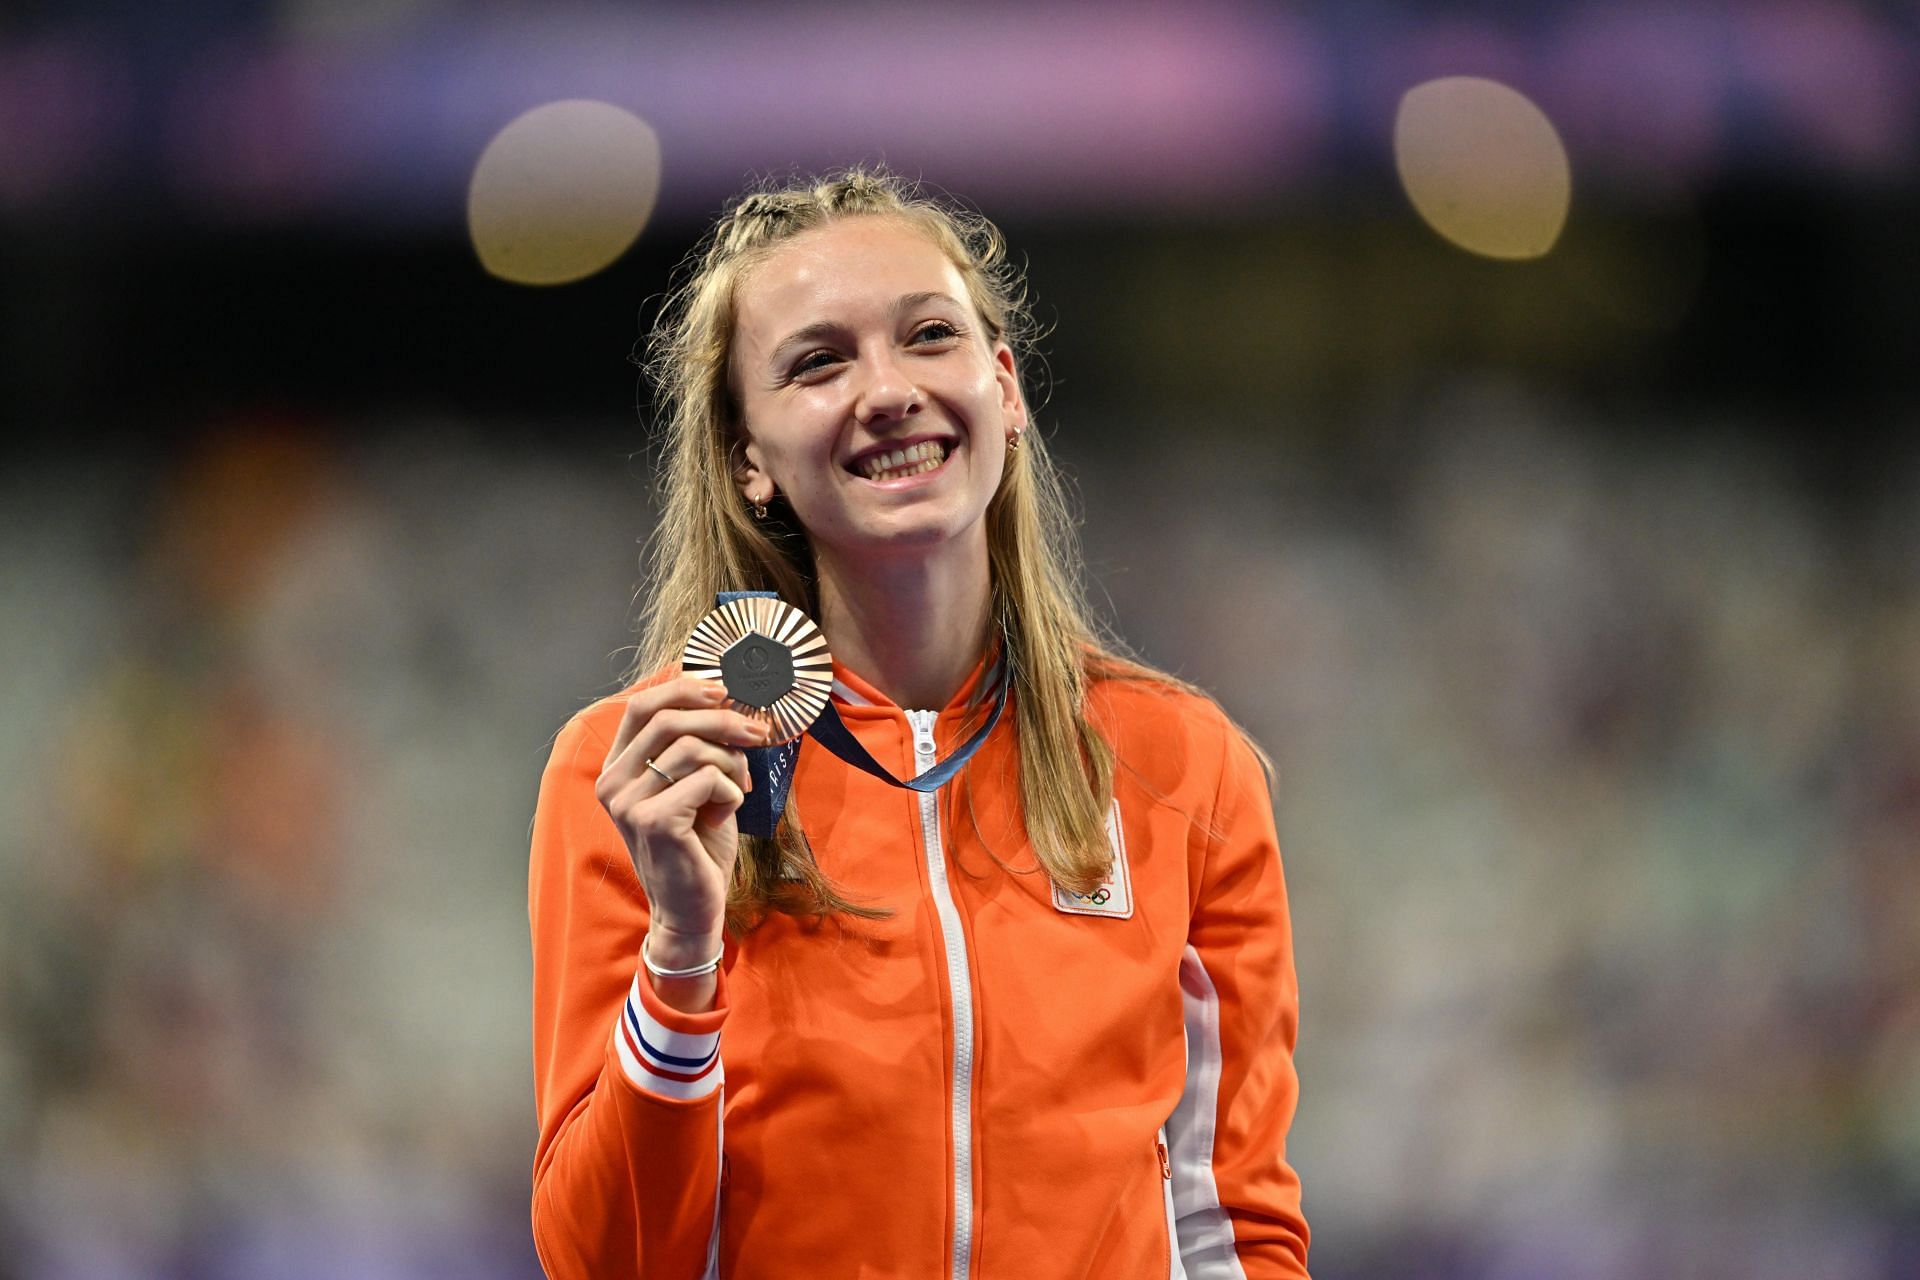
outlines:
{"label": "orange jacket sleeve with striped cuff on the arm raising the medal", "polygon": [[718,1244],[726,975],[687,1015],[639,971],[647,902],[593,794],[605,756],[576,716],[534,810],[534,1245],[551,1280],[693,1280]]}

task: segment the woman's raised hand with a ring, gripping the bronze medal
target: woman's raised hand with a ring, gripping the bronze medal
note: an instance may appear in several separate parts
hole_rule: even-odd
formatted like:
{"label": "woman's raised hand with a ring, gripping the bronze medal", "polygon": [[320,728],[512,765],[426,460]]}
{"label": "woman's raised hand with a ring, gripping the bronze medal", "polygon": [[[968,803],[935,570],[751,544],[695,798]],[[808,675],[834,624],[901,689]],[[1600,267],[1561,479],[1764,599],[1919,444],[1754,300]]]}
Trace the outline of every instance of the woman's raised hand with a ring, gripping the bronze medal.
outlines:
{"label": "woman's raised hand with a ring, gripping the bronze medal", "polygon": [[626,700],[593,794],[647,890],[647,954],[662,969],[693,967],[720,950],[739,852],[733,814],[753,787],[741,748],[766,739],[766,723],[728,706],[714,681],[678,676]]}

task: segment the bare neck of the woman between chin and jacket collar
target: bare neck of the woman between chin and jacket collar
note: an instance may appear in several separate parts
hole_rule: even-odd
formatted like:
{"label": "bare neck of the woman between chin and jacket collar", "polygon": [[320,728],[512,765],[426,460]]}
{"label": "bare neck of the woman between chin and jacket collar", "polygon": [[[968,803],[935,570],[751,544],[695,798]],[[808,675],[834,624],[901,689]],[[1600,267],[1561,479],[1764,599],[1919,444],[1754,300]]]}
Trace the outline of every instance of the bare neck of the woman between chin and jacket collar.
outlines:
{"label": "bare neck of the woman between chin and jacket collar", "polygon": [[987,649],[993,593],[985,530],[931,555],[860,560],[816,549],[820,629],[833,656],[895,706],[945,708]]}

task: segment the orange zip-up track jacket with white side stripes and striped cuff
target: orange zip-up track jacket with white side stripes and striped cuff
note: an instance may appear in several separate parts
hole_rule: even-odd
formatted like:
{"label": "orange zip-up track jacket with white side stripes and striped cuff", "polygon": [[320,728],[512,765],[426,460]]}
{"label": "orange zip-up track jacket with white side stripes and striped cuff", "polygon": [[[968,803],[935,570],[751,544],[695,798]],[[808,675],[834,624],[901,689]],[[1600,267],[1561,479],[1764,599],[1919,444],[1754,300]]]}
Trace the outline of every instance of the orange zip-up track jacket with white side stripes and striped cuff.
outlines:
{"label": "orange zip-up track jacket with white side stripes and striped cuff", "polygon": [[[937,714],[839,664],[833,695],[912,777],[966,741],[983,668]],[[639,969],[647,902],[593,794],[622,708],[566,723],[534,816],[551,1280],[1308,1274],[1286,889],[1265,777],[1213,702],[1089,691],[1119,764],[1114,875],[1087,896],[1027,846],[1012,706],[927,796],[810,743],[791,804],[814,854],[893,913],[770,915],[699,1015]]]}

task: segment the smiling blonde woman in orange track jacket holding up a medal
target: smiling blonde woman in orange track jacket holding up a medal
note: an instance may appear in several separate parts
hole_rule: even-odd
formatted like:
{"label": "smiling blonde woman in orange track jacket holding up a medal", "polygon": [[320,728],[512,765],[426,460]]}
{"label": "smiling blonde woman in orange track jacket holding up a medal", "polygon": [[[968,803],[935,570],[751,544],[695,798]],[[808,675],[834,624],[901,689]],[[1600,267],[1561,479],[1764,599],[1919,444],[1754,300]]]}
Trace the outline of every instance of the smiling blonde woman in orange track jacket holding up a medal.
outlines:
{"label": "smiling blonde woman in orange track jacket holding up a medal", "polygon": [[[1094,635],[998,234],[852,171],[689,263],[639,681],[534,818],[547,1274],[1306,1276],[1267,762]],[[808,745],[741,837],[766,731],[678,672],[732,589],[895,777],[991,731],[927,794]]]}

